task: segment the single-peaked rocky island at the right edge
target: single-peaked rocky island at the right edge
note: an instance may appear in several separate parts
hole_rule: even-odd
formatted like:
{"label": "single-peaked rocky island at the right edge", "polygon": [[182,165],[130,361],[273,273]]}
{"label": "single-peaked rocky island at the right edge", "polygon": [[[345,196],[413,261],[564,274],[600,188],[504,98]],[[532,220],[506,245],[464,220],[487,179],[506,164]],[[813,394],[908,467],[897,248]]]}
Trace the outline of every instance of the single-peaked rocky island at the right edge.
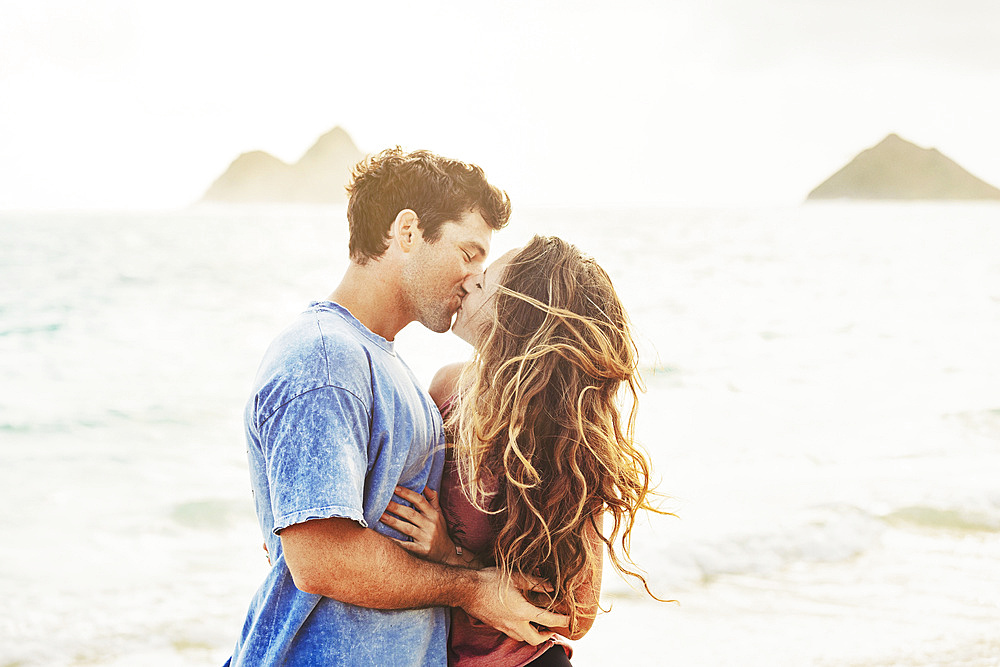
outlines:
{"label": "single-peaked rocky island at the right edge", "polygon": [[818,185],[807,199],[1000,200],[1000,189],[937,149],[890,134]]}

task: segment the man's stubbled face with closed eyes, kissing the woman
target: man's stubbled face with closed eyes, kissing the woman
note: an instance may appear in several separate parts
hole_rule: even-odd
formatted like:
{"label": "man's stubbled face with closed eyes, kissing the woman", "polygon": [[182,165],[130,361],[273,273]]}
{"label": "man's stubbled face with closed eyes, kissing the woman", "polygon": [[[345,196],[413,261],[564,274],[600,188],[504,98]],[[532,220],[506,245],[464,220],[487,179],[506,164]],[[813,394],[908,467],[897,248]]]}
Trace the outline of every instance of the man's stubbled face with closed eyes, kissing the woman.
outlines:
{"label": "man's stubbled face with closed eyes, kissing the woman", "polygon": [[493,230],[479,212],[469,211],[441,226],[434,243],[423,241],[403,270],[403,290],[414,319],[444,333],[465,295],[463,283],[481,273]]}

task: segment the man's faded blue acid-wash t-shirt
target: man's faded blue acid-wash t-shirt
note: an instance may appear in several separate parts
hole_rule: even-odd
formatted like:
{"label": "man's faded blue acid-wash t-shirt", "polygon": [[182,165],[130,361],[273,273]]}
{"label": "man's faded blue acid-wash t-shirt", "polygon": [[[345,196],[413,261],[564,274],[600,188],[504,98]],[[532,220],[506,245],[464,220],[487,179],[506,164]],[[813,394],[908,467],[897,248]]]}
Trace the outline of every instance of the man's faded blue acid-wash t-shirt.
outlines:
{"label": "man's faded blue acid-wash t-shirt", "polygon": [[446,609],[384,611],[303,593],[278,537],[293,524],[331,517],[402,537],[379,522],[395,486],[438,488],[441,416],[393,344],[336,303],[312,304],[264,355],[245,422],[273,566],[251,601],[232,666],[445,665]]}

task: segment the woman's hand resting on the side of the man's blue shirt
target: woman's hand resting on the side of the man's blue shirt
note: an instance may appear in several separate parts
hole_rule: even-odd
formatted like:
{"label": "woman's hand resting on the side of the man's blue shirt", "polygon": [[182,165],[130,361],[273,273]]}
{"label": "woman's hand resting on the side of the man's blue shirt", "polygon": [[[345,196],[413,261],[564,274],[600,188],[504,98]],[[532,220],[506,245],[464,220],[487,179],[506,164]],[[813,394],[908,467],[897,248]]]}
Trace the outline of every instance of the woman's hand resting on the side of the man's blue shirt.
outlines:
{"label": "woman's hand resting on the side of the man's blue shirt", "polygon": [[424,488],[424,495],[420,495],[406,487],[397,486],[396,495],[413,507],[389,501],[389,506],[381,518],[382,523],[395,528],[412,540],[412,542],[404,540],[395,542],[410,553],[426,560],[466,566],[464,559],[456,553],[455,543],[448,536],[448,526],[444,522],[444,514],[441,513],[437,492],[431,488]]}

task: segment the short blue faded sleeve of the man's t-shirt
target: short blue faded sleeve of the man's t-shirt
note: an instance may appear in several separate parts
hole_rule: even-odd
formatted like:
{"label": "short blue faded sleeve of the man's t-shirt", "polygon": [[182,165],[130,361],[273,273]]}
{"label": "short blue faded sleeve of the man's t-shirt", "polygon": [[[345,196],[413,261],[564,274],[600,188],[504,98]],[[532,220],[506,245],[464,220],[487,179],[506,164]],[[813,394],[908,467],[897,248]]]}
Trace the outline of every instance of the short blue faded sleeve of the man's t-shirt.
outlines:
{"label": "short blue faded sleeve of the man's t-shirt", "polygon": [[273,510],[272,531],[311,519],[344,517],[367,527],[364,484],[370,416],[350,391],[306,391],[260,425]]}

